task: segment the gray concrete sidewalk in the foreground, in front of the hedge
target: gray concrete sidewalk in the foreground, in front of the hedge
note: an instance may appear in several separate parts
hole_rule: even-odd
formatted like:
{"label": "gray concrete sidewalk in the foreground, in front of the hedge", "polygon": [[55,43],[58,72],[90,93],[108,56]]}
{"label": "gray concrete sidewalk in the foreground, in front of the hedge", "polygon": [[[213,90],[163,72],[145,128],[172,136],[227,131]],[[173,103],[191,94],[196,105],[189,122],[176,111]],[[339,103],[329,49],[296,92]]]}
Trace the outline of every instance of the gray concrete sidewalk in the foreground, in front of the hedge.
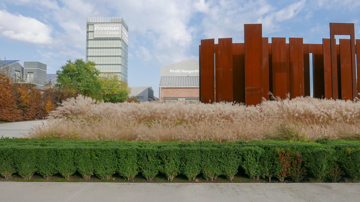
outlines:
{"label": "gray concrete sidewalk in the foreground, in front of the hedge", "polygon": [[0,201],[359,201],[360,183],[0,182]]}

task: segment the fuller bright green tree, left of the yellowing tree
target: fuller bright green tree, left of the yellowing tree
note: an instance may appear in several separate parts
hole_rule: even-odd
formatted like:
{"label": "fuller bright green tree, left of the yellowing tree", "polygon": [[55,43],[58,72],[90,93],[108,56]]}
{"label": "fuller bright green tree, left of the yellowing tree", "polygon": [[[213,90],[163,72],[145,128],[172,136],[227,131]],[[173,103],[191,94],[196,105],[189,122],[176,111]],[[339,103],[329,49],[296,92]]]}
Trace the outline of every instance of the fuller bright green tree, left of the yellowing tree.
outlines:
{"label": "fuller bright green tree, left of the yellowing tree", "polygon": [[60,70],[56,71],[58,75],[56,86],[60,89],[67,89],[72,94],[101,99],[99,95],[101,84],[98,79],[100,71],[96,69],[95,65],[94,62],[84,62],[82,59],[76,59],[74,62],[68,60],[65,65],[60,67]]}

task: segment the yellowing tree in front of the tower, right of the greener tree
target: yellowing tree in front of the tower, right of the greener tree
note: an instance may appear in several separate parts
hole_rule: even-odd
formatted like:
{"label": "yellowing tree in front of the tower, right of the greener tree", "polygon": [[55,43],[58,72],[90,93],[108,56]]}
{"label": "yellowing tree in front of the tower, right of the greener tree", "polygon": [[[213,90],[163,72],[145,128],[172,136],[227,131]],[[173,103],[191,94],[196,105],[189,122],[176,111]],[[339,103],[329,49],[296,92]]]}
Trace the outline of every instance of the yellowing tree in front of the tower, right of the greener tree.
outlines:
{"label": "yellowing tree in front of the tower, right of the greener tree", "polygon": [[121,81],[121,78],[117,74],[102,73],[99,76],[101,84],[101,98],[104,102],[125,102],[127,95],[130,94],[131,89],[127,86],[127,83]]}

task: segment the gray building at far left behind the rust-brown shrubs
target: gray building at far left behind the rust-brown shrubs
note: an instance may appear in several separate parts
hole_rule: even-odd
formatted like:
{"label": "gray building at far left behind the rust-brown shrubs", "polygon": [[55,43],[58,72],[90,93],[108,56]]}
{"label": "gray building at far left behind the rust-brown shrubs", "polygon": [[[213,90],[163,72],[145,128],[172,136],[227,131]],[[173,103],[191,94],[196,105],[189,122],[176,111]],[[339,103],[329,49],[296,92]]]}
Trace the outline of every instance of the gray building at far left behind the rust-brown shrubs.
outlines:
{"label": "gray building at far left behind the rust-brown shrubs", "polygon": [[22,66],[19,61],[20,60],[0,60],[0,67],[8,67],[9,73],[14,77],[15,81],[44,89],[47,66],[40,62],[24,62],[24,66]]}

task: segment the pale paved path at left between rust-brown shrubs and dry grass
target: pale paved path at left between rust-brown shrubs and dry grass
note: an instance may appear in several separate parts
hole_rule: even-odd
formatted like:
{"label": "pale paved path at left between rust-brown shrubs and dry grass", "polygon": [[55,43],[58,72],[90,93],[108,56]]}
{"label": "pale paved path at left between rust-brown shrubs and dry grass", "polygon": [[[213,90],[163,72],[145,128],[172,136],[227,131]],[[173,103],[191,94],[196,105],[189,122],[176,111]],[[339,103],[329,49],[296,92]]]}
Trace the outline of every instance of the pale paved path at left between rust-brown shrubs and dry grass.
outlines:
{"label": "pale paved path at left between rust-brown shrubs and dry grass", "polygon": [[23,134],[27,134],[27,130],[32,126],[42,124],[42,122],[46,122],[46,120],[0,123],[0,137],[24,137]]}

